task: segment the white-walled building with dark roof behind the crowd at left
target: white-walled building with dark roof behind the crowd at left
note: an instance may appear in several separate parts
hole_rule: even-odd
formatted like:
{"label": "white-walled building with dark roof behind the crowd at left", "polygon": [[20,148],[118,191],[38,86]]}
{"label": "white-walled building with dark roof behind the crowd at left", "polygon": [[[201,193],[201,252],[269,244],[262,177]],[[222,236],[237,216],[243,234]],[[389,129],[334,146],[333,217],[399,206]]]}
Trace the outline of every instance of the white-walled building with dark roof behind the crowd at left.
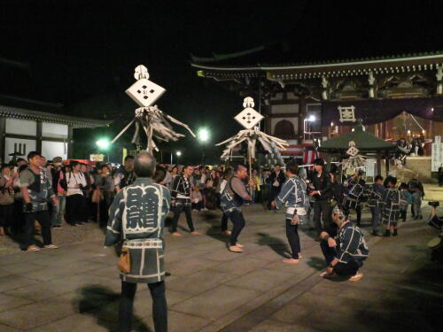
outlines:
{"label": "white-walled building with dark roof behind the crowd at left", "polygon": [[[0,58],[0,160],[40,151],[48,160],[73,158],[74,129],[106,127],[110,120],[66,115],[63,104],[45,102],[27,63]],[[37,99],[38,98],[38,99]]]}

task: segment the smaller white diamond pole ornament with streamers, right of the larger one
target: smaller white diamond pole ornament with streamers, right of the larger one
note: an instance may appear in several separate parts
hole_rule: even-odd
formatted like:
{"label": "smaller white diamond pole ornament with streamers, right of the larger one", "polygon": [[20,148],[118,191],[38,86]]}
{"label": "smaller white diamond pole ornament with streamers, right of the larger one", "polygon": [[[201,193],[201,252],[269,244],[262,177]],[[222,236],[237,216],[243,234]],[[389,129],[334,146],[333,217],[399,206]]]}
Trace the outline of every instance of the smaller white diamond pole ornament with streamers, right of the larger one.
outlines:
{"label": "smaller white diamond pole ornament with streamers, right of the larger one", "polygon": [[263,115],[253,109],[254,102],[252,97],[245,97],[243,102],[245,109],[239,112],[234,118],[237,122],[245,127],[244,130],[240,130],[237,135],[229,137],[226,141],[215,144],[220,146],[226,144],[226,149],[221,154],[221,159],[227,160],[232,150],[239,144],[247,143],[247,158],[249,163],[249,178],[253,177],[253,159],[255,158],[255,145],[257,141],[261,143],[263,148],[269,153],[272,152],[272,143],[276,144],[278,150],[286,150],[288,143],[280,138],[267,135],[260,131],[256,127],[261,120],[264,119]]}

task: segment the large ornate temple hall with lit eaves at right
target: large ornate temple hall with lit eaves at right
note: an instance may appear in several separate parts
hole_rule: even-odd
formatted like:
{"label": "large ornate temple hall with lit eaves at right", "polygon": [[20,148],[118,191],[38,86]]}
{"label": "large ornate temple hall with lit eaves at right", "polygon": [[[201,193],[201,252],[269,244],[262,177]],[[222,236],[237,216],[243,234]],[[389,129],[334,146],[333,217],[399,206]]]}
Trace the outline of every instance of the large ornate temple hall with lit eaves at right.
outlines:
{"label": "large ornate temple hall with lit eaves at right", "polygon": [[372,135],[387,141],[420,139],[424,155],[431,153],[434,136],[443,134],[443,51],[260,62],[281,58],[281,47],[192,57],[191,66],[199,77],[259,100],[256,108],[266,114],[264,131],[291,144],[284,154],[299,156],[314,138],[349,132],[354,125],[350,111]]}

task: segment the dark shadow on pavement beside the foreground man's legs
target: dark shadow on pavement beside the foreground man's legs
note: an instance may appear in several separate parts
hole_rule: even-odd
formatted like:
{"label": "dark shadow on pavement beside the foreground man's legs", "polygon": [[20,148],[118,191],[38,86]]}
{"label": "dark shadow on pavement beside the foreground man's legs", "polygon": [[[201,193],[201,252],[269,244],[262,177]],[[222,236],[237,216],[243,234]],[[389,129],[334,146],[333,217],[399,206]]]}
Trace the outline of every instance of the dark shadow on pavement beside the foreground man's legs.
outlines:
{"label": "dark shadow on pavement beside the foreground man's legs", "polygon": [[[97,319],[97,325],[109,332],[118,331],[120,293],[100,285],[89,285],[77,290],[78,297],[73,300],[73,306],[81,314],[88,314]],[[133,330],[137,332],[153,332],[134,315]]]}

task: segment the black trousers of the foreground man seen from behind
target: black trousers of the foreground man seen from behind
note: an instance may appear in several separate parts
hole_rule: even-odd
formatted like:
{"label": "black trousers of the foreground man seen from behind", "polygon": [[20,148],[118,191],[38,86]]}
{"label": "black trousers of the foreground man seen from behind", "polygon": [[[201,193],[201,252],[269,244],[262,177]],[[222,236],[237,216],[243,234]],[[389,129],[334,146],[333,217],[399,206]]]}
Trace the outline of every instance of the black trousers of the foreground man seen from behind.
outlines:
{"label": "black trousers of the foreground man seen from behind", "polygon": [[[152,318],[155,332],[167,332],[167,300],[165,282],[148,283],[152,297]],[[119,309],[120,332],[132,330],[132,314],[137,284],[121,282],[121,298]]]}

